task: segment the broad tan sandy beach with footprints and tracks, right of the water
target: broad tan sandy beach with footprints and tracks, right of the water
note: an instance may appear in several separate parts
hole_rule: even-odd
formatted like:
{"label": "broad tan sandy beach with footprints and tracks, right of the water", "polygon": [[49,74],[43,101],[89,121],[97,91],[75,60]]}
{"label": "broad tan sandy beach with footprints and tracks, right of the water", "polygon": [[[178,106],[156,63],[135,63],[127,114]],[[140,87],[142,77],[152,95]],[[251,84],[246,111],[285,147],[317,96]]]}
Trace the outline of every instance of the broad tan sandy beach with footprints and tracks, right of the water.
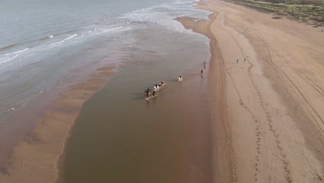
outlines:
{"label": "broad tan sandy beach with footprints and tracks, right of the water", "polygon": [[197,7],[214,14],[178,20],[210,38],[215,182],[324,182],[321,28],[225,1]]}

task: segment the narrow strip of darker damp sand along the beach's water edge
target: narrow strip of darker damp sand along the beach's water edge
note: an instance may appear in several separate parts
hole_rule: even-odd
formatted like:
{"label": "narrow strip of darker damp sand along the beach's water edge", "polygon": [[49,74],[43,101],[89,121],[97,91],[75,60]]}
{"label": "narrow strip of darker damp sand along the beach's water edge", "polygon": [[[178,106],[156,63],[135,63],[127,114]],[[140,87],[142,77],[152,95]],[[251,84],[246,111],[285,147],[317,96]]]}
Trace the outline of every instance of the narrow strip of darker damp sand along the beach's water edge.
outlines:
{"label": "narrow strip of darker damp sand along the beach's water edge", "polygon": [[[222,53],[217,46],[217,40],[210,31],[210,25],[217,18],[217,12],[213,12],[208,16],[208,20],[202,19],[195,21],[191,17],[179,17],[177,19],[185,28],[192,29],[195,33],[206,35],[210,39],[210,71],[209,71],[209,85],[211,97],[211,116],[212,121],[212,142],[213,142],[213,180],[215,182],[226,182],[226,175],[231,178],[230,182],[237,180],[237,175],[233,172],[233,143],[231,139],[231,125],[227,121],[227,112],[224,108],[226,105],[226,75],[224,73],[224,59]],[[217,87],[215,87],[215,85]],[[221,130],[222,129],[222,130]],[[223,139],[225,137],[225,141]],[[227,152],[223,152],[226,149]],[[224,155],[226,154],[226,155]],[[224,175],[224,176],[221,176]]]}

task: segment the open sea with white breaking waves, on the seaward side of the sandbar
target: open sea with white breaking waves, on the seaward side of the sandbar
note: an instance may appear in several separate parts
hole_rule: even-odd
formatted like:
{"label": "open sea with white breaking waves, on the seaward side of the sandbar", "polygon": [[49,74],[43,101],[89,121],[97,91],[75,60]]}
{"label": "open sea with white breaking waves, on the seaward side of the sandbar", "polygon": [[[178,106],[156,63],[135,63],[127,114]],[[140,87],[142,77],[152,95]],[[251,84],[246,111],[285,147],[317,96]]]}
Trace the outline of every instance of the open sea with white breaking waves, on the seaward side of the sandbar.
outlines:
{"label": "open sea with white breaking waves, on the seaward side of the sandbar", "polygon": [[[0,166],[12,146],[31,132],[35,119],[57,96],[53,89],[59,94],[101,65],[132,64],[132,60],[124,59],[129,56],[127,49],[138,50],[136,44],[145,41],[140,35],[149,29],[192,35],[173,20],[182,15],[208,15],[191,6],[188,0],[2,2],[0,137],[6,141],[0,141]],[[156,41],[166,44],[163,37]],[[200,44],[204,42],[181,49]],[[167,45],[170,50],[165,54],[177,51]],[[154,60],[155,55],[149,51],[145,56]]]}

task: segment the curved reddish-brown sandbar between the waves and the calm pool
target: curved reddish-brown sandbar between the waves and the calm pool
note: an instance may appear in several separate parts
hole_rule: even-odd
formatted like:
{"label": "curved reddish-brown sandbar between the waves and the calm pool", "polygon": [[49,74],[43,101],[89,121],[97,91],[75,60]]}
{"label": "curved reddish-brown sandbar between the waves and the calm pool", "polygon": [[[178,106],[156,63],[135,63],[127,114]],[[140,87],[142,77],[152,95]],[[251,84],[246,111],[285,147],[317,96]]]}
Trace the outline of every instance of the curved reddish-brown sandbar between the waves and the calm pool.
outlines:
{"label": "curved reddish-brown sandbar between the waves and the calm pool", "polygon": [[75,118],[84,101],[97,92],[116,67],[100,67],[89,80],[70,86],[53,101],[44,118],[37,119],[33,135],[21,141],[13,150],[10,164],[0,173],[0,182],[56,182],[58,162],[63,153]]}

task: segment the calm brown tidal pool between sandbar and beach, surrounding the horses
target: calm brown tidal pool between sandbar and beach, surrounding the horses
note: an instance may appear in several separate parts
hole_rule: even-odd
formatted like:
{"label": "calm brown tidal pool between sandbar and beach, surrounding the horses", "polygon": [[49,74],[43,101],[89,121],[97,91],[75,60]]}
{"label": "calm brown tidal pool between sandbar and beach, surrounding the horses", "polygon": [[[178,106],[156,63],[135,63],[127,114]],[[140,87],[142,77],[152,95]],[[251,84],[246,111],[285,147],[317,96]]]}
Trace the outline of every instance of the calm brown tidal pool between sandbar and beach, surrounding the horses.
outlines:
{"label": "calm brown tidal pool between sandbar and beach, surrounding the horses", "polygon": [[[64,182],[211,182],[207,69],[199,73],[206,38],[163,28],[135,34],[116,76],[75,121]],[[160,80],[167,85],[146,101],[144,90]]]}

